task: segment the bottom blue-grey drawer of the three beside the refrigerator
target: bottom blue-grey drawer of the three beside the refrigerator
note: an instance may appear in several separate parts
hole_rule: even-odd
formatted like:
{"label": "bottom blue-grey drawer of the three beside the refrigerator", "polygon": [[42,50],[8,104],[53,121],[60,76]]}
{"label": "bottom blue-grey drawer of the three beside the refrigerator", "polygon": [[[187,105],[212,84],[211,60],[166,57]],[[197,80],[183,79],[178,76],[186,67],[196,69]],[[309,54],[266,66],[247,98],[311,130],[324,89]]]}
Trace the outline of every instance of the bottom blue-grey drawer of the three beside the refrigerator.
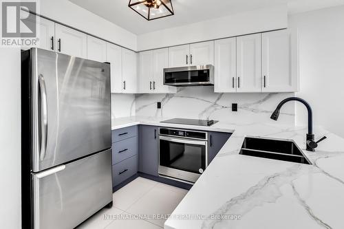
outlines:
{"label": "bottom blue-grey drawer of the three beside the refrigerator", "polygon": [[138,156],[128,159],[112,166],[112,185],[116,186],[129,177],[138,173]]}

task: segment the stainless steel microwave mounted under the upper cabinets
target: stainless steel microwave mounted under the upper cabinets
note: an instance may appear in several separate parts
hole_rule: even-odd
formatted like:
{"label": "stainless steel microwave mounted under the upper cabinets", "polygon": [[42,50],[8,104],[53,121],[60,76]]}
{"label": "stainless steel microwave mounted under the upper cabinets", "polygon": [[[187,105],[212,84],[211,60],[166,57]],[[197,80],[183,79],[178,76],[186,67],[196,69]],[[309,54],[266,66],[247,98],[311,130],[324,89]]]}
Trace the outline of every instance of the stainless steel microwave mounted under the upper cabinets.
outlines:
{"label": "stainless steel microwave mounted under the upper cabinets", "polygon": [[179,87],[214,85],[214,66],[164,68],[164,85]]}

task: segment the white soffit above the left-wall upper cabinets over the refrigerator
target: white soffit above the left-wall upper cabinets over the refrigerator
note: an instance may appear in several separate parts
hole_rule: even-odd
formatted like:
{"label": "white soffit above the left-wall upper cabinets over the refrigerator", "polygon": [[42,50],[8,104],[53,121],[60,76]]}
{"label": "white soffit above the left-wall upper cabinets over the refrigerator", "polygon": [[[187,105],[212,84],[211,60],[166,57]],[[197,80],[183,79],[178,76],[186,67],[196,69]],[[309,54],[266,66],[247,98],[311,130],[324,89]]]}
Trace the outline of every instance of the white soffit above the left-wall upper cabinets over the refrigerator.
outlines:
{"label": "white soffit above the left-wall upper cabinets over the refrigerator", "polygon": [[39,1],[40,14],[102,39],[137,50],[137,36],[68,0]]}

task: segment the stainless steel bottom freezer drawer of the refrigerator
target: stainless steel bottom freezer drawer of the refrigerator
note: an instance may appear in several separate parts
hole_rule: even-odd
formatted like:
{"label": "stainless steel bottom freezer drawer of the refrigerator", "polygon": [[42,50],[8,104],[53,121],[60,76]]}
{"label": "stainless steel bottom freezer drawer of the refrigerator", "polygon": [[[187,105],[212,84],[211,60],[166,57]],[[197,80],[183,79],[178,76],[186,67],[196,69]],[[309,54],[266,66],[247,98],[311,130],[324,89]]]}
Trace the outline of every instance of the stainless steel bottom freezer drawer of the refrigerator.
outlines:
{"label": "stainless steel bottom freezer drawer of the refrigerator", "polygon": [[112,201],[111,149],[32,174],[34,228],[70,229]]}

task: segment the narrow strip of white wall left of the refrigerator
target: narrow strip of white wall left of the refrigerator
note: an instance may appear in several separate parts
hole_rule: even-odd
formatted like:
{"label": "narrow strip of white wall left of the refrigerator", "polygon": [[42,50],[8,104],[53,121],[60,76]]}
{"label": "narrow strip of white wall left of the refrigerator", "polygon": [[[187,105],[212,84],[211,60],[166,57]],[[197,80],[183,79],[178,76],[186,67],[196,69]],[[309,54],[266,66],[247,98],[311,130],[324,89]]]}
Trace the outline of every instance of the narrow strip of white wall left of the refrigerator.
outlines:
{"label": "narrow strip of white wall left of the refrigerator", "polygon": [[0,227],[21,228],[20,50],[0,47]]}

